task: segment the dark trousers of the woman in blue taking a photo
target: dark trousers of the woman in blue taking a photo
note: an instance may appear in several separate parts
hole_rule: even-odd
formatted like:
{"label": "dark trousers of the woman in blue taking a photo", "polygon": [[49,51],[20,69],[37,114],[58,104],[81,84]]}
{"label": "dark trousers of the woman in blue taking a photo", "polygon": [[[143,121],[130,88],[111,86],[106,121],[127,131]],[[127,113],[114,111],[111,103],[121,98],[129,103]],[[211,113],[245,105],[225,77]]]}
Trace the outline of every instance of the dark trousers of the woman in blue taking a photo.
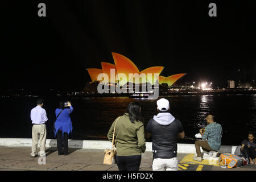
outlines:
{"label": "dark trousers of the woman in blue taking a photo", "polygon": [[58,131],[57,133],[57,148],[59,155],[68,155],[68,133]]}

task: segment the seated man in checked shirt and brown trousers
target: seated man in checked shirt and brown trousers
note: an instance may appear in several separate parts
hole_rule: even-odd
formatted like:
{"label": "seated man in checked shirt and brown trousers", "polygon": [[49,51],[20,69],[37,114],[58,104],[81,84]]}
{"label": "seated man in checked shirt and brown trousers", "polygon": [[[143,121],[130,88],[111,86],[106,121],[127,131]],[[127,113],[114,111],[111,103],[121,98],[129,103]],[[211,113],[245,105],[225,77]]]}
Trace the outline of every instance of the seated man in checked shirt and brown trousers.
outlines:
{"label": "seated man in checked shirt and brown trousers", "polygon": [[203,129],[200,129],[200,134],[202,135],[203,140],[196,140],[195,142],[197,156],[194,156],[193,160],[198,162],[202,162],[203,160],[200,147],[202,147],[204,151],[217,152],[220,150],[221,146],[221,135],[223,134],[221,125],[214,122],[213,115],[208,115],[206,120],[208,125],[205,127],[204,134]]}

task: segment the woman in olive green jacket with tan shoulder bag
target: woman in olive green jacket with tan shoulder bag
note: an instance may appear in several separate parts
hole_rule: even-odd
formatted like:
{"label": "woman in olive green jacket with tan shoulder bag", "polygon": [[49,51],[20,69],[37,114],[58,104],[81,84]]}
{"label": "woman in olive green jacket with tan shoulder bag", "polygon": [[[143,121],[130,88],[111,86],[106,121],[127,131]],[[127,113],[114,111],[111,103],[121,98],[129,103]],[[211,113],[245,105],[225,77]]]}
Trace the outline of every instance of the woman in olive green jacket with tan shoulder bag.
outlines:
{"label": "woman in olive green jacket with tan shoulder bag", "polygon": [[[116,123],[116,125],[115,125]],[[125,114],[115,119],[108,132],[112,141],[115,126],[115,156],[119,171],[138,171],[141,153],[146,150],[141,105],[131,102]]]}

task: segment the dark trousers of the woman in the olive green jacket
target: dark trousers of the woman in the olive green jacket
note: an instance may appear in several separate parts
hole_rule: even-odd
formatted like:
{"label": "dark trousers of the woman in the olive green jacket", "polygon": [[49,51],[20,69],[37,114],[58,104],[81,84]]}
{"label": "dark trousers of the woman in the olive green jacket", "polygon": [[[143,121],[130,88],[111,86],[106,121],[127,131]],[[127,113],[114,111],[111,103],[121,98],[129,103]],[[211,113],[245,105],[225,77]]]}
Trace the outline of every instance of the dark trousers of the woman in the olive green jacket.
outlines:
{"label": "dark trousers of the woman in the olive green jacket", "polygon": [[139,171],[141,155],[115,156],[119,171]]}

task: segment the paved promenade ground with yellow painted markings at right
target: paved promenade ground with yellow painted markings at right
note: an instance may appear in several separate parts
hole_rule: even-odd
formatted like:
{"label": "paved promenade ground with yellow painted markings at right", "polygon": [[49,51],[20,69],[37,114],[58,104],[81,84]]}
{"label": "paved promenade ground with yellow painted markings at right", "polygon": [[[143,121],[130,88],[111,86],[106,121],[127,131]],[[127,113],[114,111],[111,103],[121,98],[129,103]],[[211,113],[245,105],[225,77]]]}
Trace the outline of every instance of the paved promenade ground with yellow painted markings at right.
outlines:
{"label": "paved promenade ground with yellow painted markings at right", "polygon": [[[47,148],[46,164],[30,158],[31,147],[0,146],[0,171],[118,171],[117,165],[102,164],[104,150],[69,148],[69,155],[57,155],[57,148]],[[179,171],[256,171],[256,165],[233,169],[220,168],[218,164],[193,161],[193,154],[178,154]],[[41,160],[43,163],[43,160]],[[140,171],[152,171],[152,153],[142,155]]]}

